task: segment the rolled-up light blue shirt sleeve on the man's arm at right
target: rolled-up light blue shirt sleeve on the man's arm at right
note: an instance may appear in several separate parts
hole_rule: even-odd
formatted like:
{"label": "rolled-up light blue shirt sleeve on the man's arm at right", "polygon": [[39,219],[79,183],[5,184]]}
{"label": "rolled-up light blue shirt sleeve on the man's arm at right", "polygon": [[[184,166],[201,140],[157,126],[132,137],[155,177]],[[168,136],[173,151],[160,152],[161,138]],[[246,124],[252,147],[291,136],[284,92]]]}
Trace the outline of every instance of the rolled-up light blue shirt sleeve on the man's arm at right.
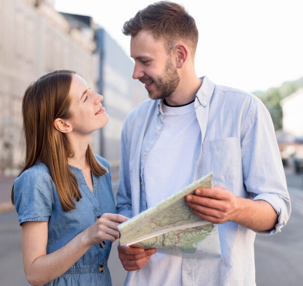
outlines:
{"label": "rolled-up light blue shirt sleeve on the man's arm at right", "polygon": [[275,228],[258,233],[275,234],[291,212],[282,160],[271,116],[260,100],[254,100],[243,123],[241,136],[243,182],[253,200],[268,202],[278,215]]}

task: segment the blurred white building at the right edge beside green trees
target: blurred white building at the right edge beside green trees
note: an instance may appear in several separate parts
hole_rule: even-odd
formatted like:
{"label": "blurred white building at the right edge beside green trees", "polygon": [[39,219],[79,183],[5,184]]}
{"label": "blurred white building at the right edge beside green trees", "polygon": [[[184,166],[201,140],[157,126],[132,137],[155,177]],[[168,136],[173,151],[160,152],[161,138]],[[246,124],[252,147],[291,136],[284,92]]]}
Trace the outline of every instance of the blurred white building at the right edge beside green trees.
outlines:
{"label": "blurred white building at the right edge beside green trees", "polygon": [[280,105],[283,111],[283,131],[296,137],[303,136],[303,89],[284,98]]}

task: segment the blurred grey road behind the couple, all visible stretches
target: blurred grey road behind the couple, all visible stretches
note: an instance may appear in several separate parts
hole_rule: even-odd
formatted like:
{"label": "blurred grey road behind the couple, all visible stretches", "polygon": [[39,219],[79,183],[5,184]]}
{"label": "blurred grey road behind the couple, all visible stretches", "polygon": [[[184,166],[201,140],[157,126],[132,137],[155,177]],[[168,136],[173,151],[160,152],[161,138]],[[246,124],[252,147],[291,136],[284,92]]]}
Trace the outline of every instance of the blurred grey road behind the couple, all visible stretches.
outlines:
{"label": "blurred grey road behind the couple, all visible stretches", "polygon": [[[255,242],[257,286],[301,286],[303,281],[303,176],[286,170],[292,202],[288,224],[275,236],[257,235]],[[1,189],[1,188],[0,188]],[[0,286],[28,286],[22,265],[21,227],[15,211],[0,214]],[[126,275],[113,245],[108,261],[113,286]]]}

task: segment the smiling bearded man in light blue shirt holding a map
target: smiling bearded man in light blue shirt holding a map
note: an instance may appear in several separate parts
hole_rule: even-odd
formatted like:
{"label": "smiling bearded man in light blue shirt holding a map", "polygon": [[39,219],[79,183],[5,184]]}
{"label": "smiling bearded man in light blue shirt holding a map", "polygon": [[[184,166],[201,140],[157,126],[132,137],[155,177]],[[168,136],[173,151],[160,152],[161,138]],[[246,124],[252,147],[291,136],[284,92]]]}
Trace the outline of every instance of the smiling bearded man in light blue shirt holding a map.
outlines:
{"label": "smiling bearded man in light blue shirt holding a map", "polygon": [[131,35],[133,78],[151,100],[129,113],[122,130],[118,212],[135,216],[213,172],[216,186],[186,201],[218,223],[222,254],[197,259],[119,246],[130,271],[125,285],[256,285],[256,233],[279,232],[290,215],[269,112],[254,95],[197,77],[197,27],[181,5],[149,5],[123,33]]}

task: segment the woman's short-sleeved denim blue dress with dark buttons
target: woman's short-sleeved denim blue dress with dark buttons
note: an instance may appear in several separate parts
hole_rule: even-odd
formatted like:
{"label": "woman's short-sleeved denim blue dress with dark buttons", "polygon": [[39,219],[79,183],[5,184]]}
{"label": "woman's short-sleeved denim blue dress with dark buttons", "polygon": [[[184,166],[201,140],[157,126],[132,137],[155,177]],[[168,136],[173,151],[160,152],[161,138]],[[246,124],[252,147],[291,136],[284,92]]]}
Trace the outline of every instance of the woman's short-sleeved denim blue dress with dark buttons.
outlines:
{"label": "woman's short-sleeved denim blue dress with dark buttons", "polygon": [[[108,162],[100,156],[97,160],[109,170]],[[92,175],[93,192],[86,184],[81,169],[70,166],[76,176],[82,198],[76,209],[65,212],[61,208],[55,184],[42,162],[23,172],[14,182],[15,208],[22,222],[48,222],[46,253],[60,249],[80,232],[91,226],[102,214],[116,213],[110,172]],[[47,286],[111,286],[107,259],[110,241],[91,248],[64,274]]]}

